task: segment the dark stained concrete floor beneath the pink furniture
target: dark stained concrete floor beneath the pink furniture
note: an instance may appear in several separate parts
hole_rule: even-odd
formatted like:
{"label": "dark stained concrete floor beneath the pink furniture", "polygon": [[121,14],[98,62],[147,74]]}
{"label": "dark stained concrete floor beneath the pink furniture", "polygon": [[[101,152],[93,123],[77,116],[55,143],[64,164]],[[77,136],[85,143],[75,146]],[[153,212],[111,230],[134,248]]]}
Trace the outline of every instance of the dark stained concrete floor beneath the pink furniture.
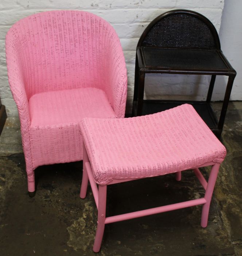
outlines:
{"label": "dark stained concrete floor beneath the pink furniture", "polygon": [[[220,103],[214,104],[219,113]],[[93,253],[97,211],[90,187],[79,198],[82,162],[36,169],[37,191],[28,197],[19,120],[8,118],[0,137],[0,255],[242,255],[242,102],[230,102],[220,167],[207,228],[201,206],[106,225]],[[203,168],[207,176],[207,169]],[[110,185],[107,215],[203,196],[191,171]]]}

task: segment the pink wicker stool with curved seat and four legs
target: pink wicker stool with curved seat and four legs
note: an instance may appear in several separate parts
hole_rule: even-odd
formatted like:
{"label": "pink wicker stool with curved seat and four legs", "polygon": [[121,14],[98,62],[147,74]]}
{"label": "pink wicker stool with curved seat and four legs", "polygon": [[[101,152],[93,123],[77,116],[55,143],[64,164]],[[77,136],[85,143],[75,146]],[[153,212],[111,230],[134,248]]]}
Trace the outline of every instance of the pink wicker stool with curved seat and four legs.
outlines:
{"label": "pink wicker stool with curved seat and four legs", "polygon": [[[203,204],[201,226],[207,226],[212,192],[226,149],[191,105],[132,118],[85,118],[80,129],[84,141],[80,197],[86,197],[90,181],[98,208],[94,252],[100,250],[105,224],[112,222]],[[208,182],[198,169],[203,166],[212,166]],[[169,173],[176,173],[176,180],[180,180],[181,171],[188,169],[204,187],[203,198],[105,216],[107,185]]]}

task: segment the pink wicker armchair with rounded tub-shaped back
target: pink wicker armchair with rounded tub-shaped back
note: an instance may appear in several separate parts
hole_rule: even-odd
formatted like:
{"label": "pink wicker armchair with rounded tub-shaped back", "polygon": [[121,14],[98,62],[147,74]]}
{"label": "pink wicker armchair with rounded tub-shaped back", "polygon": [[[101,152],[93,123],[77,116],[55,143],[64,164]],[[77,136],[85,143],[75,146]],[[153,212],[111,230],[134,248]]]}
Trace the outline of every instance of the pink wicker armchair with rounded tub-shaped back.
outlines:
{"label": "pink wicker armchair with rounded tub-shaped back", "polygon": [[34,192],[36,167],[82,160],[83,117],[124,117],[124,55],[104,19],[84,11],[48,11],[11,27],[6,58],[28,191]]}

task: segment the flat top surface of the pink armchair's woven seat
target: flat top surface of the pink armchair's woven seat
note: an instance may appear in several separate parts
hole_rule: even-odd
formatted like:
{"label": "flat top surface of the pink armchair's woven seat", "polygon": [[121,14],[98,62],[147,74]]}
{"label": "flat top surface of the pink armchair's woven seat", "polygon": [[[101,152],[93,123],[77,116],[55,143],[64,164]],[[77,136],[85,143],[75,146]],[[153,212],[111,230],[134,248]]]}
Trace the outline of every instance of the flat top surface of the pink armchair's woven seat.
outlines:
{"label": "flat top surface of the pink armchair's woven seat", "polygon": [[29,100],[31,126],[78,123],[83,117],[115,117],[104,91],[78,88],[33,95]]}

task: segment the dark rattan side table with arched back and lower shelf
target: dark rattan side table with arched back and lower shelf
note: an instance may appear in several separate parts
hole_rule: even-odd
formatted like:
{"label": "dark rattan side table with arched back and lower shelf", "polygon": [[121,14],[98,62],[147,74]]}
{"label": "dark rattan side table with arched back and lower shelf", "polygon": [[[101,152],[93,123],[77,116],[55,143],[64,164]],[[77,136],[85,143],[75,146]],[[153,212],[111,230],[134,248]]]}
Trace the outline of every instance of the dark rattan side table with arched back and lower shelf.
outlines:
{"label": "dark rattan side table with arched back and lower shelf", "polygon": [[[203,29],[199,22],[204,23],[204,27],[207,28]],[[198,28],[195,29],[195,26]],[[161,35],[158,34],[160,30]],[[200,33],[202,33],[201,37],[199,37]],[[159,43],[159,40],[163,41]],[[211,75],[207,99],[206,101],[144,100],[144,82],[147,73]],[[229,77],[218,121],[210,104],[216,75]],[[220,138],[235,75],[235,70],[220,49],[216,29],[207,18],[188,10],[166,12],[148,25],[137,45],[132,115],[152,114],[183,103],[190,103],[208,127]]]}

